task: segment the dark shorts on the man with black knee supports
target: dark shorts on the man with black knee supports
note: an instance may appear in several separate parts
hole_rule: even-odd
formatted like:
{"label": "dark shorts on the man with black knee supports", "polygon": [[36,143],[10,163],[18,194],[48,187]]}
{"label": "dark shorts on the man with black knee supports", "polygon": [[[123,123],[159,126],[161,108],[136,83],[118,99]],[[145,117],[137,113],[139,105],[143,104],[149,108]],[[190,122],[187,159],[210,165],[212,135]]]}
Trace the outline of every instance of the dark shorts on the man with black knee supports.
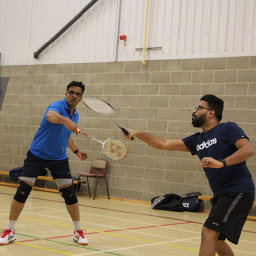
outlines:
{"label": "dark shorts on the man with black knee supports", "polygon": [[30,151],[27,152],[27,158],[24,160],[21,176],[37,178],[44,168],[49,169],[53,179],[72,179],[68,158],[64,160],[46,160],[36,157]]}

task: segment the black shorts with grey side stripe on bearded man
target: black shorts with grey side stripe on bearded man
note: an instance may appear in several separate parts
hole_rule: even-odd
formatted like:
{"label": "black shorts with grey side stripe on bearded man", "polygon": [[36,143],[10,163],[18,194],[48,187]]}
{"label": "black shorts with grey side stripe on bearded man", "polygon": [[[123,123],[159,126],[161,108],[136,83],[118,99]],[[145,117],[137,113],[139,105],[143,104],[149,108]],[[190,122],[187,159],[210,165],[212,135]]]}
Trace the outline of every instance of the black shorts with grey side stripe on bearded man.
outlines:
{"label": "black shorts with grey side stripe on bearded man", "polygon": [[238,244],[242,228],[253,206],[254,197],[246,193],[227,193],[211,198],[212,209],[204,227],[221,233],[219,240],[226,238]]}

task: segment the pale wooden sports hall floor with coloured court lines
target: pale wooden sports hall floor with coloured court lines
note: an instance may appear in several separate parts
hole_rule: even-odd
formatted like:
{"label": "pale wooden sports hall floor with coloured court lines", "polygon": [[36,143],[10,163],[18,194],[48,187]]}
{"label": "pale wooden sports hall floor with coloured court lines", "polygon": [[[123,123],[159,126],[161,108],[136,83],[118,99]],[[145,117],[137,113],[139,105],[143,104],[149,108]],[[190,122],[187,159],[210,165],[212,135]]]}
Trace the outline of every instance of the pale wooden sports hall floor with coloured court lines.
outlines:
{"label": "pale wooden sports hall floor with coloured court lines", "polygon": [[[6,228],[16,188],[0,186],[0,229]],[[196,256],[207,213],[152,210],[150,205],[79,195],[87,246],[73,241],[61,195],[32,191],[16,224],[17,240],[1,256]],[[230,244],[230,243],[229,243]],[[256,255],[256,221],[247,221],[236,256]]]}

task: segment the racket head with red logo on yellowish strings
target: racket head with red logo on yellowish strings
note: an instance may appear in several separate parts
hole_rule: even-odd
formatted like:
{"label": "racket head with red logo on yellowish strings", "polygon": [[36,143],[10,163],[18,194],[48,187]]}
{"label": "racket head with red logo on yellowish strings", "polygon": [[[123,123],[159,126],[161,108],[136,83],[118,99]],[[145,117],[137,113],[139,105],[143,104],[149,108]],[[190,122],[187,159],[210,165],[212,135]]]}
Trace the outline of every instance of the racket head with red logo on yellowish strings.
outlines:
{"label": "racket head with red logo on yellowish strings", "polygon": [[108,159],[114,161],[122,160],[128,154],[128,146],[123,140],[117,137],[111,137],[103,143],[102,153]]}

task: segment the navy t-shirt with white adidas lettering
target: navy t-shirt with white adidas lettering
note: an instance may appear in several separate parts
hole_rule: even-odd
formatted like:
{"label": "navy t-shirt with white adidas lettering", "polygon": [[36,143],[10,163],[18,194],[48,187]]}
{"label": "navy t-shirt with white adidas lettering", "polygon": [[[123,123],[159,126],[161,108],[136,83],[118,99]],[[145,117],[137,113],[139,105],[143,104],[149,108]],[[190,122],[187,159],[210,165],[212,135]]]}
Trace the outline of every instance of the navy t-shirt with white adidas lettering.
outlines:
{"label": "navy t-shirt with white adidas lettering", "polygon": [[[200,160],[203,157],[219,160],[237,151],[234,143],[241,138],[248,139],[236,123],[226,122],[216,125],[206,133],[198,132],[182,140],[191,154],[197,154]],[[255,186],[245,161],[220,169],[204,168],[204,172],[214,195],[226,192],[255,195]]]}

